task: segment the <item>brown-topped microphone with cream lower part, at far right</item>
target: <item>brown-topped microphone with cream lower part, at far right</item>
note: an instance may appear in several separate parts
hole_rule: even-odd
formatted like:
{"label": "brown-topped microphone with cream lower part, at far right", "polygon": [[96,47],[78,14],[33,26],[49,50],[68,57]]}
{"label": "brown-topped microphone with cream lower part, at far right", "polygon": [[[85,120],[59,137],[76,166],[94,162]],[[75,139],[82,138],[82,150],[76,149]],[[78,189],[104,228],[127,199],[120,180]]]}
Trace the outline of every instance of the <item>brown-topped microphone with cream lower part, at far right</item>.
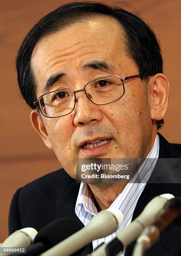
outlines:
{"label": "brown-topped microphone with cream lower part, at far right", "polygon": [[152,225],[146,227],[136,241],[133,250],[134,256],[144,255],[146,249],[150,248],[153,243],[158,241],[160,233],[163,232],[168,225],[181,215],[181,197],[175,197],[169,200],[164,206],[166,209],[160,218]]}

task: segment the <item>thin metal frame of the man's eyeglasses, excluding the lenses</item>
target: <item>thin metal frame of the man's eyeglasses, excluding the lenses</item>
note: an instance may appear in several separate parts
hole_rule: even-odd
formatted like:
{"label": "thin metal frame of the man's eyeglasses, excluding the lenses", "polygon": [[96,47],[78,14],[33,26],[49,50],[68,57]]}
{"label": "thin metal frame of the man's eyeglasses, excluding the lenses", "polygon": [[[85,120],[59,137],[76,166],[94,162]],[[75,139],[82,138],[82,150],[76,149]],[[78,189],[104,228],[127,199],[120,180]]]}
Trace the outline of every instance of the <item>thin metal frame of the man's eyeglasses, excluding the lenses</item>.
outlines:
{"label": "thin metal frame of the man's eyeglasses, excluding the lenses", "polygon": [[[119,99],[121,99],[121,98],[124,96],[124,93],[125,93],[124,81],[129,80],[129,79],[132,79],[132,78],[136,78],[136,77],[145,77],[145,76],[148,76],[148,75],[147,75],[147,74],[138,74],[138,75],[133,75],[133,76],[124,77],[124,78],[121,78],[121,77],[118,76],[118,75],[109,75],[109,76],[104,76],[104,77],[98,77],[98,78],[92,80],[91,82],[94,82],[94,81],[96,81],[96,80],[98,80],[98,79],[102,79],[102,78],[105,78],[105,77],[118,77],[118,78],[121,80],[122,84],[123,84],[123,95],[121,95],[121,97],[119,97],[119,98],[117,99],[117,100],[119,100]],[[87,84],[85,84],[85,86],[83,87],[83,89],[80,89],[80,90],[75,90],[75,91],[74,91],[74,90],[71,89],[71,88],[66,88],[66,89],[72,90],[72,91],[73,91],[73,94],[74,94],[74,106],[73,106],[73,110],[74,110],[75,104],[76,104],[76,102],[77,102],[77,98],[76,98],[76,95],[75,95],[75,93],[77,93],[77,92],[85,92],[85,95],[88,97],[88,99],[89,99],[93,104],[98,105],[98,106],[108,105],[108,104],[111,104],[111,103],[117,101],[117,100],[113,100],[112,102],[108,102],[108,103],[105,103],[105,104],[96,104],[96,103],[94,103],[94,102],[91,100],[91,98],[87,95],[87,93],[86,93],[86,91],[85,91],[85,87],[86,87],[88,84],[90,84],[91,82],[88,82]],[[60,91],[60,90],[63,90],[63,89],[59,89],[59,90],[55,90],[55,91],[51,91],[51,92],[57,92],[57,91]],[[46,93],[44,93],[43,95],[41,95],[41,96],[38,98],[38,101],[33,102],[33,105],[36,106],[36,108],[37,108],[38,110],[40,110],[40,112],[42,113],[42,115],[45,116],[46,118],[59,118],[59,117],[65,116],[65,115],[60,115],[60,116],[50,117],[50,116],[47,116],[47,115],[43,114],[43,111],[41,110],[41,107],[40,107],[40,98],[43,97],[44,95],[47,95],[48,93],[51,93],[51,92],[46,92]],[[70,113],[72,113],[73,110],[72,110]],[[68,114],[66,114],[66,115],[69,115],[70,113],[68,113]]]}

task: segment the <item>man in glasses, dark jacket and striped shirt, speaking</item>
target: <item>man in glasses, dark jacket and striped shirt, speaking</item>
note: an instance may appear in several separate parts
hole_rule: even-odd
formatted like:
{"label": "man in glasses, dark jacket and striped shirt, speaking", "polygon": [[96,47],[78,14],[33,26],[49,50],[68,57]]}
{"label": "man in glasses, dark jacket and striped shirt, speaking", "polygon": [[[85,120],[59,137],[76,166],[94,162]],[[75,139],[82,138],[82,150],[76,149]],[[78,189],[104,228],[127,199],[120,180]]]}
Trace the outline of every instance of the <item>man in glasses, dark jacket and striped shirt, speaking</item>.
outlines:
{"label": "man in glasses, dark jacket and striped shirt, speaking", "polygon": [[[120,231],[154,196],[180,195],[179,184],[155,177],[158,157],[181,157],[179,146],[157,134],[169,95],[162,63],[153,31],[121,8],[69,3],[32,28],[18,53],[18,82],[33,108],[33,127],[64,170],[18,189],[10,208],[10,233],[27,226],[40,230],[65,216],[86,225],[108,207],[123,212]],[[131,182],[78,184],[81,158],[146,160]],[[153,177],[160,184],[149,184]],[[177,255],[180,235],[177,225],[170,228],[148,255]],[[108,239],[94,241],[93,249]],[[125,254],[131,255],[131,247]]]}

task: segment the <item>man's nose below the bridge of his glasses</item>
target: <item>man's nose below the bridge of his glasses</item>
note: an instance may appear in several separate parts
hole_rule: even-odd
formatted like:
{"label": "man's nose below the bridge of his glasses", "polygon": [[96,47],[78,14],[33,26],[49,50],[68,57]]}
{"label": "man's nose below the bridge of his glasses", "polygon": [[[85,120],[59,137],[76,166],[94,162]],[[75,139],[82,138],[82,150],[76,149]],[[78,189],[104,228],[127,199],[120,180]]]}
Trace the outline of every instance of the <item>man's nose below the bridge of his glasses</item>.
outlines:
{"label": "man's nose below the bridge of his glasses", "polygon": [[101,106],[93,104],[88,100],[85,92],[76,94],[75,116],[73,122],[76,126],[88,125],[100,122],[103,119]]}

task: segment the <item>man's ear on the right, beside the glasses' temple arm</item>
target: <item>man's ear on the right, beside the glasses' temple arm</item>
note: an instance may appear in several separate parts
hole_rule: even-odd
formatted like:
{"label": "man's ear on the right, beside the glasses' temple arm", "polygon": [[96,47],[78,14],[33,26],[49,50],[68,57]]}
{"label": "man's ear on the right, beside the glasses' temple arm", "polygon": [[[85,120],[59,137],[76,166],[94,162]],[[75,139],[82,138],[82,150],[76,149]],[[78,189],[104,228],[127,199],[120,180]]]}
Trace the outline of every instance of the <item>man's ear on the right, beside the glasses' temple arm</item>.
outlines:
{"label": "man's ear on the right, beside the glasses' temple arm", "polygon": [[151,79],[151,119],[161,120],[168,108],[170,86],[168,79],[162,73],[150,77]]}

